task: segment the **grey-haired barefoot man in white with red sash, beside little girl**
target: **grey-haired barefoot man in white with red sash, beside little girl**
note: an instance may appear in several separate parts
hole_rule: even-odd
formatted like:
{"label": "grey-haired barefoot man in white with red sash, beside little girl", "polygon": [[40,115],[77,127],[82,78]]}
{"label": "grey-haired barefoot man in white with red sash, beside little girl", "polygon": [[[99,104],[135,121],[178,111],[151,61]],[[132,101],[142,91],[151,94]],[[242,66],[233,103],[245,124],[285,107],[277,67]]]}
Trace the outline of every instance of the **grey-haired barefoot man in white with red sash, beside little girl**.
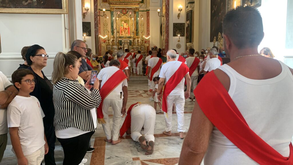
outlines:
{"label": "grey-haired barefoot man in white with red sash, beside little girl", "polygon": [[[178,129],[180,138],[184,138],[184,104],[185,99],[190,96],[190,76],[189,68],[183,62],[176,60],[176,52],[168,50],[167,63],[164,64],[160,72],[160,80],[158,85],[158,100],[161,101],[161,90],[166,79],[166,84],[163,93],[162,109],[165,114],[165,131],[163,134],[171,136],[172,130],[172,108],[173,103],[176,106],[176,113],[178,119]],[[184,93],[184,78],[186,79],[187,89]]]}

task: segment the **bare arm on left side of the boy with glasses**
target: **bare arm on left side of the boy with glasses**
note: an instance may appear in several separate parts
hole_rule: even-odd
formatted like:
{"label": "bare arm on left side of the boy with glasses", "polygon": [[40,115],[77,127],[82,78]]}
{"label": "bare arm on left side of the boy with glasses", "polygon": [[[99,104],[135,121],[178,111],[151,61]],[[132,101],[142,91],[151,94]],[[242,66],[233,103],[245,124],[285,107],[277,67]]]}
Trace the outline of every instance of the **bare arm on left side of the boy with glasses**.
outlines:
{"label": "bare arm on left side of the boy with glasses", "polygon": [[21,144],[19,141],[18,137],[18,127],[10,127],[9,128],[9,134],[10,134],[10,139],[11,139],[11,144],[13,147],[13,150],[16,154],[18,164],[19,165],[27,165],[28,160],[24,157],[22,149],[21,149]]}

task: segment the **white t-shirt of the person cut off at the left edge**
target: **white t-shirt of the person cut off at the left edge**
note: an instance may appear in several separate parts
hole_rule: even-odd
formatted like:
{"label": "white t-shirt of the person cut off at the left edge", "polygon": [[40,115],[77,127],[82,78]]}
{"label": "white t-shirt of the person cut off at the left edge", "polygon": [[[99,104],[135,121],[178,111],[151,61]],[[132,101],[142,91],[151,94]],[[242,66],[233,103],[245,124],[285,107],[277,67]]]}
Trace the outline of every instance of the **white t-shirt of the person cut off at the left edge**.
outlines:
{"label": "white t-shirt of the person cut off at the left edge", "polygon": [[[4,91],[12,85],[8,78],[0,71],[0,91]],[[0,107],[0,134],[8,133],[7,127],[7,110]]]}

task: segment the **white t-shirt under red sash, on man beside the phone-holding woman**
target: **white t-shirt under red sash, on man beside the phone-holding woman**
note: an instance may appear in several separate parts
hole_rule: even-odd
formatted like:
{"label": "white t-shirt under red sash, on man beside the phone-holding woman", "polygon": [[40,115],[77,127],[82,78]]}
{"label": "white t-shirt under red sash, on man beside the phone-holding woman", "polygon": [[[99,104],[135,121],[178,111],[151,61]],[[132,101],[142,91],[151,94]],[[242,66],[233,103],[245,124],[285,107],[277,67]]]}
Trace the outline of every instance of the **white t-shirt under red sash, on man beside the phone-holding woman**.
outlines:
{"label": "white t-shirt under red sash, on man beside the phone-holding woman", "polygon": [[[105,84],[105,82],[115,73],[119,70],[119,68],[115,66],[109,66],[107,68],[104,68],[100,71],[98,74],[98,79],[102,80],[101,82],[101,88]],[[113,89],[109,95],[105,99],[120,99],[120,92],[122,91],[122,87],[127,86],[127,80],[123,80],[115,89]],[[123,98],[123,95],[122,95]]]}

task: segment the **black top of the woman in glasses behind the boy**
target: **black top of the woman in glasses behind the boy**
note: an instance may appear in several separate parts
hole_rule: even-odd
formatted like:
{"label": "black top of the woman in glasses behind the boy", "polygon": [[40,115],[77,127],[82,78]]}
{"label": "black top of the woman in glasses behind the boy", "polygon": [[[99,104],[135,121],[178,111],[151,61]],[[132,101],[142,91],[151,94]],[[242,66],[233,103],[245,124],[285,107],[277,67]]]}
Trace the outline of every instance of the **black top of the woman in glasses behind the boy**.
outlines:
{"label": "black top of the woman in glasses behind the boy", "polygon": [[[28,69],[33,71],[31,67],[28,67]],[[55,115],[53,104],[53,84],[44,75],[43,71],[42,74],[44,78],[41,78],[34,71],[33,73],[37,83],[35,85],[34,91],[31,92],[30,95],[37,97],[37,99],[40,101],[42,110],[45,114],[45,117],[43,118],[44,123],[53,123]]]}

